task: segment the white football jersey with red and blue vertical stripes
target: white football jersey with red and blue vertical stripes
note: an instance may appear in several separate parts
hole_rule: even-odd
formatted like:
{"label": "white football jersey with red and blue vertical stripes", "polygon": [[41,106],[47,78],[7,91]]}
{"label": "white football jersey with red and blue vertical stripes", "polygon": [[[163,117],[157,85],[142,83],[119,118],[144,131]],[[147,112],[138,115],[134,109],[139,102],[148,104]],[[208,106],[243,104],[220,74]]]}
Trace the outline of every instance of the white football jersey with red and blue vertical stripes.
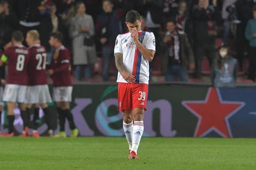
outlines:
{"label": "white football jersey with red and blue vertical stripes", "polygon": [[[146,47],[146,49],[156,51],[156,40],[154,33],[138,31],[138,39],[140,43]],[[130,32],[119,34],[116,37],[114,53],[122,53],[124,70],[135,76],[135,83],[148,84],[149,63],[140,53],[131,37]],[[124,80],[124,78],[121,76],[120,72],[118,72],[116,82],[127,83],[126,80]]]}

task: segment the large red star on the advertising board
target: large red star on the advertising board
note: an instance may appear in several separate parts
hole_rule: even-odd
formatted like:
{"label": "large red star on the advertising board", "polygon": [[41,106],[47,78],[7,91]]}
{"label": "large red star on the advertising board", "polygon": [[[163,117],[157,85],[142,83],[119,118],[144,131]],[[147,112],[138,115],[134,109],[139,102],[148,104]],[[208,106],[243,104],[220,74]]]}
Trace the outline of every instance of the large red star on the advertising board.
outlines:
{"label": "large red star on the advertising board", "polygon": [[228,118],[244,106],[243,102],[224,102],[216,88],[209,88],[205,101],[184,101],[182,104],[198,117],[195,137],[216,131],[222,137],[232,137]]}

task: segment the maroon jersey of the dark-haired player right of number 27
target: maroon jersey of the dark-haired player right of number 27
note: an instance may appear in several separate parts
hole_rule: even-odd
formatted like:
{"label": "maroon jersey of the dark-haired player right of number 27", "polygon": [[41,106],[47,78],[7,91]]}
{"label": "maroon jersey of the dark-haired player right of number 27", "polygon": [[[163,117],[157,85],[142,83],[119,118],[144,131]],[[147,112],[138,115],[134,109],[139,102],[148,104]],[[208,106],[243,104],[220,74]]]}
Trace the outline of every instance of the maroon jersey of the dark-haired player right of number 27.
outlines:
{"label": "maroon jersey of the dark-haired player right of number 27", "polygon": [[70,77],[70,53],[64,46],[56,49],[59,53],[57,59],[52,59],[50,68],[54,71],[52,75],[54,87],[72,86]]}

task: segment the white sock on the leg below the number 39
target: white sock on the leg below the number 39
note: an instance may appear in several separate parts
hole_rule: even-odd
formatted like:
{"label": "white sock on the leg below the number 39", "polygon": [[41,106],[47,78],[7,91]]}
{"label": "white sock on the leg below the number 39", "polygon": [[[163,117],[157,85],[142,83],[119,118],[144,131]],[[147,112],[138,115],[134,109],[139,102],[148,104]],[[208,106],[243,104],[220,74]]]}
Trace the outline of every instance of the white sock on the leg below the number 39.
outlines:
{"label": "white sock on the leg below the number 39", "polygon": [[140,145],[140,139],[144,131],[143,121],[134,121],[133,135],[132,135],[132,150],[137,154]]}

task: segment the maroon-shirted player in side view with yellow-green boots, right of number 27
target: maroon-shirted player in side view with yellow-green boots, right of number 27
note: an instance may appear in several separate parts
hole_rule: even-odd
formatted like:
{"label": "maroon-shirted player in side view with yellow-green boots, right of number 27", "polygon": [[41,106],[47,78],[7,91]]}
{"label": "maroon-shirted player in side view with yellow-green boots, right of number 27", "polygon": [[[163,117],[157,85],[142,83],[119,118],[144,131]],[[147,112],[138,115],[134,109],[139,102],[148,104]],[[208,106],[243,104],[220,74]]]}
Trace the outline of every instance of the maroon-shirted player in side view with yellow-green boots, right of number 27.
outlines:
{"label": "maroon-shirted player in side view with yellow-green boots, right of number 27", "polygon": [[66,137],[65,120],[68,119],[71,136],[78,136],[78,129],[74,124],[73,115],[69,109],[69,103],[72,100],[72,84],[70,78],[70,53],[62,45],[63,35],[60,32],[55,32],[50,35],[49,43],[54,47],[55,53],[50,64],[48,74],[53,79],[53,100],[56,102],[59,113],[60,133],[56,137]]}

